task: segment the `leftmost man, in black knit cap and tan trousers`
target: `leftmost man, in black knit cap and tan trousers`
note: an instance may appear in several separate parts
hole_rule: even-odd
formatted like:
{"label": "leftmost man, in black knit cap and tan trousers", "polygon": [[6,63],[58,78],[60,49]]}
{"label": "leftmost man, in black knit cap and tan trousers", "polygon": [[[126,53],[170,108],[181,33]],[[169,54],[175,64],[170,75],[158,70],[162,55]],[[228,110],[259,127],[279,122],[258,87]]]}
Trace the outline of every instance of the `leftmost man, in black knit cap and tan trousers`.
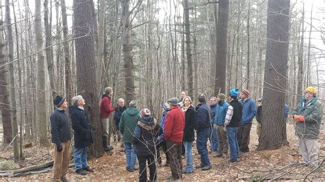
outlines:
{"label": "leftmost man, in black knit cap and tan trousers", "polygon": [[54,149],[53,181],[68,181],[66,175],[70,163],[71,123],[65,109],[67,100],[56,96],[53,100],[56,110],[51,114],[51,141]]}

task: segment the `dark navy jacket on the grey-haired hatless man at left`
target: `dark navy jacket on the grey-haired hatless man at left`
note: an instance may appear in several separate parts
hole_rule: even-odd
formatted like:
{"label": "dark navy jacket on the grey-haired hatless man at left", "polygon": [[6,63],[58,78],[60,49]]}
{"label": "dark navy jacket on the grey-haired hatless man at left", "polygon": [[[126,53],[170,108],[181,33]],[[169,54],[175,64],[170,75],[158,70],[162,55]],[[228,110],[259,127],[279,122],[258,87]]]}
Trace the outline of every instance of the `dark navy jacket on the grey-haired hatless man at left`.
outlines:
{"label": "dark navy jacket on the grey-haired hatless man at left", "polygon": [[69,107],[72,128],[74,131],[75,148],[84,148],[94,142],[94,135],[91,131],[91,121],[88,120],[86,110],[77,106]]}

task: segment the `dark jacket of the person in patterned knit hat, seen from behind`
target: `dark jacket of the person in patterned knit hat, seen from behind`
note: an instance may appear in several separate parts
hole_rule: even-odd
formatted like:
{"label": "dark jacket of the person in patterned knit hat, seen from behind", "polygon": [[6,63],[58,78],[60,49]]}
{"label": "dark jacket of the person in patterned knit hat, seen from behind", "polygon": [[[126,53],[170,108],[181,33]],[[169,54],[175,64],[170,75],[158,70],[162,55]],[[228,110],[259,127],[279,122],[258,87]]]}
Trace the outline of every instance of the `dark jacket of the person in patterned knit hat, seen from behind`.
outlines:
{"label": "dark jacket of the person in patterned knit hat, seen from behind", "polygon": [[132,143],[136,146],[136,155],[156,155],[157,138],[162,132],[160,125],[152,116],[139,118],[132,140]]}

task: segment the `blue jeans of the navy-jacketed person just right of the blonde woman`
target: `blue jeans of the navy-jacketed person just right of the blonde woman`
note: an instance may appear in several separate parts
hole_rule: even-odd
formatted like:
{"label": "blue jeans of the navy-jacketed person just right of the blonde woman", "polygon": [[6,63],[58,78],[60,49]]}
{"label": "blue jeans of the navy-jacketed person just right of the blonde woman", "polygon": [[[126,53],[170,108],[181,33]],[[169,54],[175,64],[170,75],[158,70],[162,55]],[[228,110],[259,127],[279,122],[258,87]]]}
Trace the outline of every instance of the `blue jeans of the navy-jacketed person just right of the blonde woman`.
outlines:
{"label": "blue jeans of the navy-jacketed person just right of the blonde woman", "polygon": [[203,166],[209,166],[210,160],[208,159],[208,148],[206,146],[206,142],[208,142],[210,128],[202,129],[196,133],[196,147],[197,152],[201,155],[201,164]]}

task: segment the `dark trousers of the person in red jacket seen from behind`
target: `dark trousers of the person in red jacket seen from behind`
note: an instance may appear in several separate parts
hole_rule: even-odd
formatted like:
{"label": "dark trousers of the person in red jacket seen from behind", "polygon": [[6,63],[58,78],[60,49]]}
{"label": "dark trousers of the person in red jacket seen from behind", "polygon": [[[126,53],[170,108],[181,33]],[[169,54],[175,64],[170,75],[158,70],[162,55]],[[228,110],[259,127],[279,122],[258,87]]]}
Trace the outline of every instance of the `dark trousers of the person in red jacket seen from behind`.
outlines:
{"label": "dark trousers of the person in red jacket seen from behind", "polygon": [[171,175],[173,179],[181,179],[182,178],[182,142],[176,143],[170,140],[166,141],[168,148],[168,155],[171,167]]}

